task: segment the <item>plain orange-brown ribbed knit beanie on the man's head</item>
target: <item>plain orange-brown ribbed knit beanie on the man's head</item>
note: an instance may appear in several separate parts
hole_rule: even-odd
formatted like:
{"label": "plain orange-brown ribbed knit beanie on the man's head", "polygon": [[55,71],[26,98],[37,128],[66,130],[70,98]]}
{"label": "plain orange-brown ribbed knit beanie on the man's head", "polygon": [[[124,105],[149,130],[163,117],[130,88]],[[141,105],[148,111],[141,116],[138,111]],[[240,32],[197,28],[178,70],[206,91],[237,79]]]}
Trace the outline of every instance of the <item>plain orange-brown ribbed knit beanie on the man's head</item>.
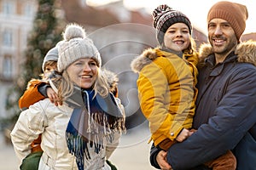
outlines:
{"label": "plain orange-brown ribbed knit beanie on the man's head", "polygon": [[208,12],[207,22],[209,23],[212,19],[216,18],[227,20],[235,31],[237,40],[239,40],[246,28],[246,20],[248,18],[247,7],[228,1],[215,3]]}

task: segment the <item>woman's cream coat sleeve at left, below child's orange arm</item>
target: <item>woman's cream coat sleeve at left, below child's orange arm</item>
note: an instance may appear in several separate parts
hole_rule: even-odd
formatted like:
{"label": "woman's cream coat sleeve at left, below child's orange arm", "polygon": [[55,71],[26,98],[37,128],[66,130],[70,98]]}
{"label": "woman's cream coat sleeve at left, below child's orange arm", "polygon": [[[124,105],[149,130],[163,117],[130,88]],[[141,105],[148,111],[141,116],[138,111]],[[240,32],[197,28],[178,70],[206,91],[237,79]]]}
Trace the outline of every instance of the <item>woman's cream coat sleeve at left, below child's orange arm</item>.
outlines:
{"label": "woman's cream coat sleeve at left, below child's orange arm", "polygon": [[47,124],[47,118],[41,106],[44,103],[44,100],[40,101],[26,111],[22,111],[10,133],[16,156],[20,161],[31,153],[32,141],[44,132]]}

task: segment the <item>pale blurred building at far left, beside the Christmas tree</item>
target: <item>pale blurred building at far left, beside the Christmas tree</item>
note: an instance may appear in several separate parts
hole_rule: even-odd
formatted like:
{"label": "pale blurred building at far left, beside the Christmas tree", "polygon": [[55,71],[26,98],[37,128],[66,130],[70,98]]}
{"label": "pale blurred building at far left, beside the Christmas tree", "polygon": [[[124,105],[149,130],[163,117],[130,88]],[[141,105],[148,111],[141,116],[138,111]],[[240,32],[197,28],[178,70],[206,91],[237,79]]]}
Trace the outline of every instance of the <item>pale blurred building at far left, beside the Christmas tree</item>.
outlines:
{"label": "pale blurred building at far left, beside the Christmas tree", "polygon": [[0,0],[0,118],[7,116],[4,109],[6,94],[19,76],[26,37],[32,29],[37,12],[36,0]]}

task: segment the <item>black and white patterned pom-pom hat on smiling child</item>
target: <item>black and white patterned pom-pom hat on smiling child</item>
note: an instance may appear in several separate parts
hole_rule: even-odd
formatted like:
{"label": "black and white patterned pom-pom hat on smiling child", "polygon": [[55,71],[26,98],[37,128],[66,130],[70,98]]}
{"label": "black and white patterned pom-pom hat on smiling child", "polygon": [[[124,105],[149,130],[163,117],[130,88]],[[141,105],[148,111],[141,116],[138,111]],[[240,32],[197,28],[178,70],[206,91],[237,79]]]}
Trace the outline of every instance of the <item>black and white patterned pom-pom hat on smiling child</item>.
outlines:
{"label": "black and white patterned pom-pom hat on smiling child", "polygon": [[156,37],[160,44],[164,40],[167,29],[176,23],[184,23],[189,27],[191,34],[192,26],[189,18],[180,11],[170,8],[168,5],[160,5],[153,11],[153,26],[156,29]]}

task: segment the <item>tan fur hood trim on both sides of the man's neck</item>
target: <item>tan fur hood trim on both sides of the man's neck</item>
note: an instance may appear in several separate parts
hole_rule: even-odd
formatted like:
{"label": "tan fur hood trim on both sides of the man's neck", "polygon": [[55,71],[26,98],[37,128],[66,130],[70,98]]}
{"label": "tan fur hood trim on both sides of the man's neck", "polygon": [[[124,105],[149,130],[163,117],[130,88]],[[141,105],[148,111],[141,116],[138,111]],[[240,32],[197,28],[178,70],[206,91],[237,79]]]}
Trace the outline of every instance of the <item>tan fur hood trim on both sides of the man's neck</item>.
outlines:
{"label": "tan fur hood trim on both sides of the man's neck", "polygon": [[[204,62],[212,53],[212,46],[209,43],[202,44],[199,49],[200,63]],[[237,54],[237,61],[242,63],[251,63],[256,66],[256,42],[247,41],[241,42],[237,45],[235,54]]]}

